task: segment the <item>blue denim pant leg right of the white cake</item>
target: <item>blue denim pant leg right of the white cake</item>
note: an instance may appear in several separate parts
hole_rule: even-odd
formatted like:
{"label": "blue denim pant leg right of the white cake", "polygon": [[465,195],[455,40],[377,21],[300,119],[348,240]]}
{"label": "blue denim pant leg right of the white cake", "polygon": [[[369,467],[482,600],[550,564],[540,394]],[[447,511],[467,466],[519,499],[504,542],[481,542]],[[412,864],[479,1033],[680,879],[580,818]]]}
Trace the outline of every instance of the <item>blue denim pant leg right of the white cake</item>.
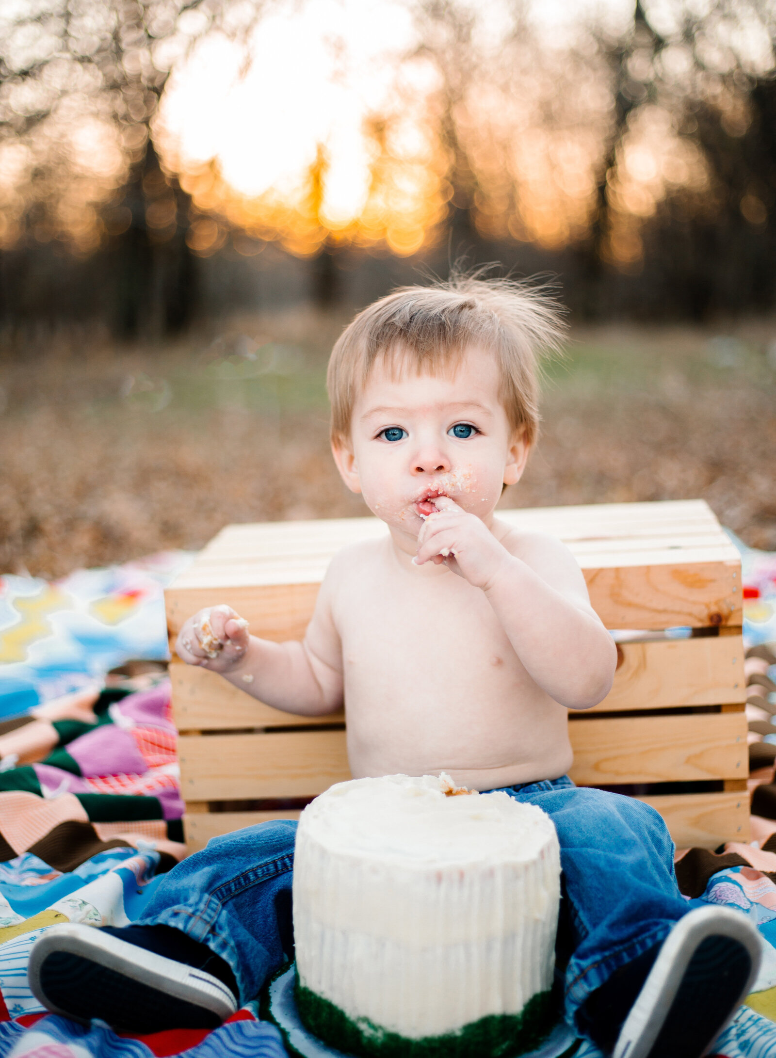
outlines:
{"label": "blue denim pant leg right of the white cake", "polygon": [[538,805],[558,832],[574,951],[565,1015],[574,1024],[592,991],[618,967],[661,943],[690,910],[673,870],[673,842],[654,808],[570,779],[507,787]]}

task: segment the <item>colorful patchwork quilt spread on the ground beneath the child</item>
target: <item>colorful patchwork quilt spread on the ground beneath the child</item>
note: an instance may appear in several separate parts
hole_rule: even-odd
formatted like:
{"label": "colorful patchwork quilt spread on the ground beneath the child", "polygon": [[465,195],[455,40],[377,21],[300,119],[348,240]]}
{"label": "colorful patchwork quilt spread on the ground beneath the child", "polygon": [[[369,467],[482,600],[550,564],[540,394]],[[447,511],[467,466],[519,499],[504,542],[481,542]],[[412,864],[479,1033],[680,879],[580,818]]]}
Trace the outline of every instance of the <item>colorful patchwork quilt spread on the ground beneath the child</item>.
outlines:
{"label": "colorful patchwork quilt spread on the ground beneath the child", "polygon": [[[742,551],[745,636],[776,640],[776,555]],[[0,745],[16,746],[0,749],[0,1058],[287,1054],[255,1002],[214,1030],[133,1036],[47,1014],[26,979],[43,930],[137,919],[185,855],[168,680],[161,665],[105,677],[166,658],[163,587],[188,561],[170,552],[51,584],[0,578]],[[715,1054],[776,1058],[776,871],[693,850],[678,876],[688,900],[735,908],[762,937],[755,991]],[[582,1040],[571,1054],[602,1058]]]}

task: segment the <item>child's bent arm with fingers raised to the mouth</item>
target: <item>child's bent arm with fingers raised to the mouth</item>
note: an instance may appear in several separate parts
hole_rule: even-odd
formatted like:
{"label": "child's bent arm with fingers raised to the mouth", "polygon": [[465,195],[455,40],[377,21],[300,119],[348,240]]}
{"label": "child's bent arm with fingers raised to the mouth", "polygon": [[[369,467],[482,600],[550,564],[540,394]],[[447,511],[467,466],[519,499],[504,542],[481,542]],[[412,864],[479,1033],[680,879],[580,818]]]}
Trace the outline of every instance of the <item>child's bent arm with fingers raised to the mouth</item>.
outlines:
{"label": "child's bent arm with fingers raised to the mouth", "polygon": [[538,533],[507,534],[501,543],[452,499],[440,496],[435,504],[439,512],[420,531],[415,562],[445,561],[481,588],[516,654],[552,698],[567,709],[601,701],[612,686],[617,651],[569,549]]}

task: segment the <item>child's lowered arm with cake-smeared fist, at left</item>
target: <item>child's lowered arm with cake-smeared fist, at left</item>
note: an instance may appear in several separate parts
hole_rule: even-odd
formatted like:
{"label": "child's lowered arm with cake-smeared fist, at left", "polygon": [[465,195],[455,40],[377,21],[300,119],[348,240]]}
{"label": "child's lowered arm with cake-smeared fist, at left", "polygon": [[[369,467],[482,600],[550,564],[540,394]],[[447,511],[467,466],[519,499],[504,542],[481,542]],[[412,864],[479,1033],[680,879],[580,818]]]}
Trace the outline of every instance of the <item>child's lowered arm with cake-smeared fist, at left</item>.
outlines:
{"label": "child's lowered arm with cake-smeared fist, at left", "polygon": [[251,636],[231,606],[212,606],[190,617],[176,641],[178,656],[201,665],[288,713],[318,715],[341,708],[339,637],[325,582],[303,642],[273,643]]}

